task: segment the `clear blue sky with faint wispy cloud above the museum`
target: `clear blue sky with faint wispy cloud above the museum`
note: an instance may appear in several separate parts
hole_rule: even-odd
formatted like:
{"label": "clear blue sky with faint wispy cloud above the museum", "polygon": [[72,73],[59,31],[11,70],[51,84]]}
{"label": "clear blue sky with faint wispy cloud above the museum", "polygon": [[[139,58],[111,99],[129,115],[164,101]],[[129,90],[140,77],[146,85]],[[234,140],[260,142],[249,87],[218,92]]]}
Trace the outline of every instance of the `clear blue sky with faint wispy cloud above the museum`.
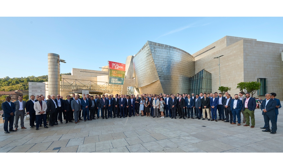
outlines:
{"label": "clear blue sky with faint wispy cloud above the museum", "polygon": [[0,78],[48,75],[47,54],[61,73],[125,63],[146,41],[194,54],[237,36],[283,44],[282,17],[0,17]]}

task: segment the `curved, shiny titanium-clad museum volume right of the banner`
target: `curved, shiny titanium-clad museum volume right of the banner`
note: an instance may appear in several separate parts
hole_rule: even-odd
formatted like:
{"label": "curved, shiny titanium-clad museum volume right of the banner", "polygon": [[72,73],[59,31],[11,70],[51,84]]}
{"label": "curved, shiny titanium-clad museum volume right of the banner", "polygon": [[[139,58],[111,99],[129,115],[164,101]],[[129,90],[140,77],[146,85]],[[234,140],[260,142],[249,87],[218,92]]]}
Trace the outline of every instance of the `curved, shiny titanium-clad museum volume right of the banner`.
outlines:
{"label": "curved, shiny titanium-clad museum volume right of the banner", "polygon": [[187,93],[195,74],[194,57],[189,53],[150,41],[135,55],[133,64],[140,93]]}

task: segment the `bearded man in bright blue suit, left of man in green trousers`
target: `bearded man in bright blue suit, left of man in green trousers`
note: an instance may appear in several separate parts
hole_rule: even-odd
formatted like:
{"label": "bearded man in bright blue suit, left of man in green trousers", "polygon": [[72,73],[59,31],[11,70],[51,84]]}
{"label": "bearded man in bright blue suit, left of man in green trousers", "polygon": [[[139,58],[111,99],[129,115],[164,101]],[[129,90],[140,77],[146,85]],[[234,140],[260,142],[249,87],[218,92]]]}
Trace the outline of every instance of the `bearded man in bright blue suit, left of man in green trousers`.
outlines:
{"label": "bearded man in bright blue suit, left of man in green trousers", "polygon": [[230,103],[230,108],[233,114],[233,122],[231,124],[236,124],[236,115],[237,115],[237,119],[238,119],[238,126],[241,125],[241,111],[243,108],[243,102],[242,100],[238,100],[239,99],[239,95],[234,95],[235,99],[231,100]]}

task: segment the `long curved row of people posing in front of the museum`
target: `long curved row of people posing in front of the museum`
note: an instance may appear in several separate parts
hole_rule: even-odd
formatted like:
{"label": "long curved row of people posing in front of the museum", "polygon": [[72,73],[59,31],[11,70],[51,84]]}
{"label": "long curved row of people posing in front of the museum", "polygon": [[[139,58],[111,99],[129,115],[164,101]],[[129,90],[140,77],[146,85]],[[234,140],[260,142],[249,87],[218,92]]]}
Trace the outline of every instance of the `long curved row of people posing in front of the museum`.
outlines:
{"label": "long curved row of people posing in front of the museum", "polygon": [[[243,96],[245,95],[245,97]],[[139,94],[135,96],[131,95],[80,95],[72,94],[67,95],[66,100],[63,97],[57,95],[48,95],[47,100],[43,95],[35,96],[31,95],[30,100],[23,101],[23,96],[19,96],[17,101],[10,102],[11,97],[6,97],[6,102],[2,103],[4,111],[4,131],[16,131],[18,129],[18,120],[21,119],[21,128],[24,127],[24,116],[25,110],[29,115],[30,128],[36,127],[36,130],[44,125],[44,128],[49,126],[58,125],[58,121],[63,123],[80,122],[80,120],[94,120],[97,119],[108,119],[141,116],[146,115],[147,117],[171,117],[176,119],[191,118],[208,121],[224,121],[230,122],[230,124],[241,125],[241,114],[243,115],[244,126],[255,126],[254,110],[256,104],[260,104],[262,115],[264,116],[265,126],[261,127],[264,132],[271,132],[275,134],[277,130],[277,116],[278,108],[281,108],[280,100],[276,99],[275,93],[267,93],[265,100],[256,101],[255,98],[250,97],[250,93],[240,92],[239,95],[235,94],[232,98],[228,92],[225,92],[225,96],[222,93],[200,93],[191,95],[183,93],[182,95],[163,94]],[[217,111],[219,119],[217,119]],[[141,112],[141,113],[140,113]],[[225,114],[225,115],[224,115]],[[83,119],[81,119],[83,117]],[[229,118],[230,117],[230,118]],[[210,119],[211,118],[211,119]],[[237,121],[236,121],[237,118]],[[73,120],[73,121],[72,121]],[[269,121],[271,121],[272,127],[270,130]],[[8,130],[9,122],[9,130]],[[36,125],[34,123],[36,122]],[[13,124],[15,130],[13,129]]]}

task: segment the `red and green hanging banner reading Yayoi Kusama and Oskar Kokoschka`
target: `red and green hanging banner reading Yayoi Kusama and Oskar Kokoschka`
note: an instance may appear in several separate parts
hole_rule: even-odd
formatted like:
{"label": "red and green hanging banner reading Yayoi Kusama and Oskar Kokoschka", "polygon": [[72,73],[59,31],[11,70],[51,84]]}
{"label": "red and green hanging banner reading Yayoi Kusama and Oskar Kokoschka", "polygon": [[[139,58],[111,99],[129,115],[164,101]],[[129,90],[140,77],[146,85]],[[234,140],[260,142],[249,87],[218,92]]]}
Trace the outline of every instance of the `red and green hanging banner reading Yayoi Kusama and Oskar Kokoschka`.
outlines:
{"label": "red and green hanging banner reading Yayoi Kusama and Oskar Kokoschka", "polygon": [[125,64],[108,61],[109,65],[109,84],[124,84]]}

